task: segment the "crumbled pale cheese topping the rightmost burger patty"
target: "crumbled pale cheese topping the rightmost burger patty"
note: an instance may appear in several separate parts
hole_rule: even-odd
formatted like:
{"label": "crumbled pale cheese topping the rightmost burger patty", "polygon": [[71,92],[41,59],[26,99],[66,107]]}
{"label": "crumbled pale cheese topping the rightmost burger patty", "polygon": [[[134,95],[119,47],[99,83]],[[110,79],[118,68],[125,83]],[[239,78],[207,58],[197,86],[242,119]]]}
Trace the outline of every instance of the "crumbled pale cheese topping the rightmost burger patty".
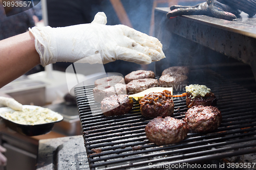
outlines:
{"label": "crumbled pale cheese topping the rightmost burger patty", "polygon": [[192,98],[194,99],[196,96],[205,96],[205,94],[210,93],[210,89],[205,85],[198,85],[198,84],[190,84],[186,86],[186,92],[191,93]]}

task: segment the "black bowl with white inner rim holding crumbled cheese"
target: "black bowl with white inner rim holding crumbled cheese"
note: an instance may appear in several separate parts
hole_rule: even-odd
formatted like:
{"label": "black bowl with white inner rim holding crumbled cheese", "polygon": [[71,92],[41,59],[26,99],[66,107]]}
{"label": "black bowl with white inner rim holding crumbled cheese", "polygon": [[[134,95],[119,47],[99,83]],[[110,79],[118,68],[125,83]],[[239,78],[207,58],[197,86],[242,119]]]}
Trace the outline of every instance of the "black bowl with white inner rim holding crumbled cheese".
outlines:
{"label": "black bowl with white inner rim holding crumbled cheese", "polygon": [[[36,108],[42,108],[42,107],[23,105],[23,108],[28,108],[28,109],[34,110]],[[42,108],[42,109],[44,109],[44,108]],[[21,133],[21,134],[24,134],[27,136],[37,136],[37,135],[43,135],[43,134],[49,133],[52,130],[55,123],[63,120],[62,115],[52,111],[51,114],[58,116],[58,119],[55,122],[46,123],[46,124],[37,124],[37,125],[22,125],[22,124],[14,123],[11,120],[4,118],[2,114],[5,112],[13,113],[14,110],[9,107],[0,108],[0,117],[2,117],[6,126],[18,133]]]}

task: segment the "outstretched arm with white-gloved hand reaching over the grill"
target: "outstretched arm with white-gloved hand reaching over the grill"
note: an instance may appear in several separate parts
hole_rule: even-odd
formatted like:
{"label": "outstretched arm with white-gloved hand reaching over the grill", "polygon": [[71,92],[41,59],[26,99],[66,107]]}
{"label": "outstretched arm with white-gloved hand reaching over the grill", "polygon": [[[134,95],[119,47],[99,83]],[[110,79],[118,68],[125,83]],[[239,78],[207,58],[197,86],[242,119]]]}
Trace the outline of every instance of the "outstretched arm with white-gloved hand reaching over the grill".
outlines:
{"label": "outstretched arm with white-gloved hand reaching over the grill", "polygon": [[37,64],[81,59],[91,64],[115,60],[149,64],[165,57],[157,38],[127,26],[105,23],[106,16],[100,13],[90,24],[33,27],[27,33],[0,41],[0,88]]}

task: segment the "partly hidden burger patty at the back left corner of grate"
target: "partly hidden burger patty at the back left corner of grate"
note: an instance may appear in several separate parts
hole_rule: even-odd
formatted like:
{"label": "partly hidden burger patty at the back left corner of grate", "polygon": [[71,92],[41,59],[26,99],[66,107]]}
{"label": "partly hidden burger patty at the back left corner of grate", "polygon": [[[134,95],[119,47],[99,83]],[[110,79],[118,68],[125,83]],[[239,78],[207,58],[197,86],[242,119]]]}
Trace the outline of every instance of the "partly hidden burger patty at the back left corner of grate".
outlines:
{"label": "partly hidden burger patty at the back left corner of grate", "polygon": [[124,84],[124,79],[121,76],[110,76],[110,77],[105,77],[102,79],[98,79],[94,82],[95,86],[98,85],[105,85],[105,86],[114,86],[117,83],[122,83]]}

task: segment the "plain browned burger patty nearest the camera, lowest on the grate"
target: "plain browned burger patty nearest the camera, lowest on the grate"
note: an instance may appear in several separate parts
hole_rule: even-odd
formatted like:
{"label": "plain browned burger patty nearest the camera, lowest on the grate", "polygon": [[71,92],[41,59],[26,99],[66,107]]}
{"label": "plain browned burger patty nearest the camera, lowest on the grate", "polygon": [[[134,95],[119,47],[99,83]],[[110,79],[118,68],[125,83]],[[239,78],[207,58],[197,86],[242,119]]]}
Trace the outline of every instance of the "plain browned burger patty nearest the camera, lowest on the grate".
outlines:
{"label": "plain browned burger patty nearest the camera, lowest on the grate", "polygon": [[183,140],[187,136],[185,121],[174,117],[157,117],[145,127],[146,137],[157,145],[172,144]]}

